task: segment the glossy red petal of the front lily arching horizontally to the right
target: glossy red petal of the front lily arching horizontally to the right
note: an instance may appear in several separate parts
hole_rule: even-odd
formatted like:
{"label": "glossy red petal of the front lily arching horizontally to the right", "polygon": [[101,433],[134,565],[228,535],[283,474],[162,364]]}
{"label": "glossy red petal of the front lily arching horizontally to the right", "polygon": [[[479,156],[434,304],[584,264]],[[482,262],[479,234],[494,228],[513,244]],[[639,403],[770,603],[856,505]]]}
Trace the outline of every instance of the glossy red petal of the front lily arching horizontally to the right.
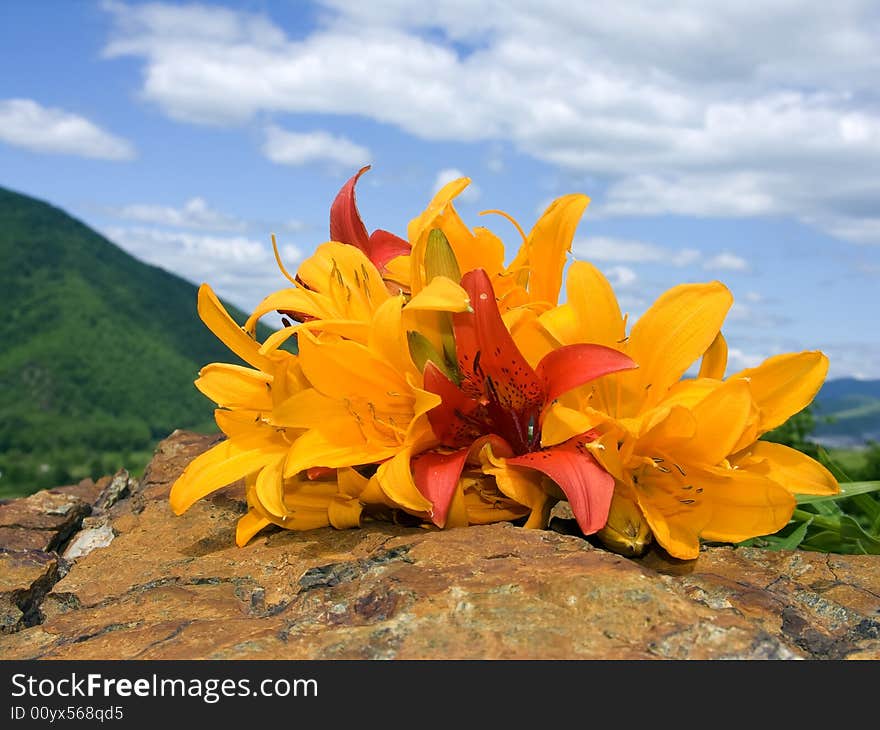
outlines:
{"label": "glossy red petal of the front lily arching horizontally to the right", "polygon": [[577,344],[551,350],[538,363],[535,372],[544,383],[546,402],[550,403],[595,378],[634,367],[636,364],[632,359],[614,348]]}

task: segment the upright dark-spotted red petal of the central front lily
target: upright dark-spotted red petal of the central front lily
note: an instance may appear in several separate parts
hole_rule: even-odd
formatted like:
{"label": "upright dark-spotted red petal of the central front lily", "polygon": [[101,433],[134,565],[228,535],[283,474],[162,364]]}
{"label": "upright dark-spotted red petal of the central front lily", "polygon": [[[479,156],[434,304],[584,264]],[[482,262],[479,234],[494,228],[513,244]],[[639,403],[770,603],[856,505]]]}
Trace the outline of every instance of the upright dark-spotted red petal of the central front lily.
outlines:
{"label": "upright dark-spotted red petal of the central front lily", "polygon": [[492,400],[504,410],[539,410],[544,404],[543,383],[501,319],[488,274],[483,269],[469,271],[461,278],[461,286],[474,310],[452,316],[465,392],[482,395],[488,386],[493,391]]}

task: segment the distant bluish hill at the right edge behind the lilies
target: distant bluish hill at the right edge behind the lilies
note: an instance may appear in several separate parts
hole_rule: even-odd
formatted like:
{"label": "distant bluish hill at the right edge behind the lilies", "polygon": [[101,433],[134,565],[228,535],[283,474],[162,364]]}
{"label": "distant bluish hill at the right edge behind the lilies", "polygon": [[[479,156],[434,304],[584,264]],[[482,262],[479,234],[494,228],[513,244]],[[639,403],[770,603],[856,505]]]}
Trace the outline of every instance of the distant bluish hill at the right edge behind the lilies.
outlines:
{"label": "distant bluish hill at the right edge behind the lilies", "polygon": [[829,380],[816,396],[813,437],[827,446],[880,442],[880,380]]}

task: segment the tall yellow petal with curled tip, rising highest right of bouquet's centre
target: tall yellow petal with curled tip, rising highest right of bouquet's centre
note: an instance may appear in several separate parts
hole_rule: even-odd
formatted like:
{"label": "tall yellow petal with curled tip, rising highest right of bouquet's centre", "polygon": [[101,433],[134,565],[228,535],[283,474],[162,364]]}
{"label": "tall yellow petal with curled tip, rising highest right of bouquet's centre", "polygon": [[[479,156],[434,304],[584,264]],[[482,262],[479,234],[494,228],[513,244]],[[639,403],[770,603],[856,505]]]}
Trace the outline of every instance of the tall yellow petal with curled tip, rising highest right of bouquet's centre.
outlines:
{"label": "tall yellow petal with curled tip, rising highest right of bouquet's centre", "polygon": [[532,301],[551,306],[559,298],[562,270],[574,232],[590,199],[564,195],[554,200],[529,233],[529,294]]}

